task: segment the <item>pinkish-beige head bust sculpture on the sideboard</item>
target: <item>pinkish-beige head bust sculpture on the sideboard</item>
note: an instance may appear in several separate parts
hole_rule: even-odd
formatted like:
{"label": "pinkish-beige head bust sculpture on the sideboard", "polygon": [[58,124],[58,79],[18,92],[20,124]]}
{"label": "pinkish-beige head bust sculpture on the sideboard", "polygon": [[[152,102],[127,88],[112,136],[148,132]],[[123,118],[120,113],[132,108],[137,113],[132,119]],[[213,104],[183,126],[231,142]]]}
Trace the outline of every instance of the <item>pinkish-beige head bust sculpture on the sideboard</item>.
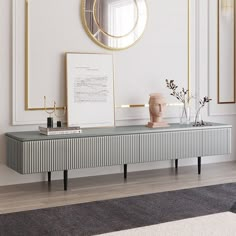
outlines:
{"label": "pinkish-beige head bust sculpture on the sideboard", "polygon": [[167,127],[169,126],[166,121],[163,120],[163,109],[166,106],[166,102],[161,93],[150,94],[149,99],[149,113],[150,122],[147,126],[149,128]]}

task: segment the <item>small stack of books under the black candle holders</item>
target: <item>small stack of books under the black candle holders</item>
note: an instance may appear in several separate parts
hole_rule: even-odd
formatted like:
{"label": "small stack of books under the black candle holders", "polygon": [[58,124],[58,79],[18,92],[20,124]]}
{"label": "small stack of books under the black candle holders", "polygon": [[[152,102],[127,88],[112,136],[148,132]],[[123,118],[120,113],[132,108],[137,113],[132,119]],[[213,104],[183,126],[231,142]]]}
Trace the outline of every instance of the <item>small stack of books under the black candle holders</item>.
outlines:
{"label": "small stack of books under the black candle holders", "polygon": [[40,134],[44,135],[60,135],[60,134],[80,134],[82,130],[80,127],[56,127],[56,128],[47,128],[39,126]]}

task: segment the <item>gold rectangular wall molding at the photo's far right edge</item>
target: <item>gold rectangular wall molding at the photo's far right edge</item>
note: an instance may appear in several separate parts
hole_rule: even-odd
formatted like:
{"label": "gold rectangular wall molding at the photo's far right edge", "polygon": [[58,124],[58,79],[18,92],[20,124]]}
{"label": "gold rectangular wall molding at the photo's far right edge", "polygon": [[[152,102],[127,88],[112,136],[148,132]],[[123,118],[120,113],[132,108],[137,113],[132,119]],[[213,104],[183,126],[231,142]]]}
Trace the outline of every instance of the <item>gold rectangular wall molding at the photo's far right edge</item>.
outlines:
{"label": "gold rectangular wall molding at the photo's far right edge", "polygon": [[236,102],[236,83],[235,83],[235,76],[236,76],[236,69],[235,69],[235,62],[236,62],[236,52],[235,52],[235,0],[234,8],[233,8],[233,17],[234,17],[234,100],[229,102],[221,102],[220,101],[220,2],[221,0],[217,0],[217,103],[218,104],[234,104]]}

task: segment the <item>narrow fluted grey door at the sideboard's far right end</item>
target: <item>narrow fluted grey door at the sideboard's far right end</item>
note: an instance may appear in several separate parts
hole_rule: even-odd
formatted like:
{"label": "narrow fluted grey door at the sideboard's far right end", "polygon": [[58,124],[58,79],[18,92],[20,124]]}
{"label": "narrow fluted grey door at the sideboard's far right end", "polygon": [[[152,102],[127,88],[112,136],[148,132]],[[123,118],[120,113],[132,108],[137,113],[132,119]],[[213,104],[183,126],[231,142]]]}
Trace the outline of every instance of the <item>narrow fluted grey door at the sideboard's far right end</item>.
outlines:
{"label": "narrow fluted grey door at the sideboard's far right end", "polygon": [[231,153],[231,128],[203,130],[203,156]]}

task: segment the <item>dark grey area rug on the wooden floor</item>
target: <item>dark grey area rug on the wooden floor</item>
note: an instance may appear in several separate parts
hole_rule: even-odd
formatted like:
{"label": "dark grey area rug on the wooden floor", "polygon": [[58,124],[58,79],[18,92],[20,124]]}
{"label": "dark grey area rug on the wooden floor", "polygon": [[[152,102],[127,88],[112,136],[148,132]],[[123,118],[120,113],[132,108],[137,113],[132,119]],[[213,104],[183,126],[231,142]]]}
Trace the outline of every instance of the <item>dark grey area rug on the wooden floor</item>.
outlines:
{"label": "dark grey area rug on the wooden floor", "polygon": [[236,213],[236,183],[0,215],[0,236],[86,236]]}

